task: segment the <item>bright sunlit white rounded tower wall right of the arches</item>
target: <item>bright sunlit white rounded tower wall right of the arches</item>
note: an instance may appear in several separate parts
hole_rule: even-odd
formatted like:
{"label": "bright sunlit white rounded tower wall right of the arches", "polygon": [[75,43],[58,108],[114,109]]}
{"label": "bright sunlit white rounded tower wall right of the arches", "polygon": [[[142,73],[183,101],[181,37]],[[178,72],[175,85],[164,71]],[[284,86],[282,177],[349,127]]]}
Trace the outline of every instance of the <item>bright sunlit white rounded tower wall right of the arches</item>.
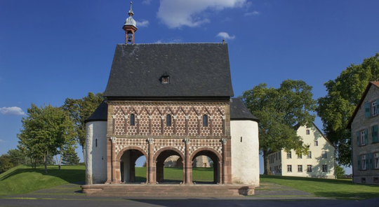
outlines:
{"label": "bright sunlit white rounded tower wall right of the arches", "polygon": [[258,123],[232,120],[232,183],[259,186]]}

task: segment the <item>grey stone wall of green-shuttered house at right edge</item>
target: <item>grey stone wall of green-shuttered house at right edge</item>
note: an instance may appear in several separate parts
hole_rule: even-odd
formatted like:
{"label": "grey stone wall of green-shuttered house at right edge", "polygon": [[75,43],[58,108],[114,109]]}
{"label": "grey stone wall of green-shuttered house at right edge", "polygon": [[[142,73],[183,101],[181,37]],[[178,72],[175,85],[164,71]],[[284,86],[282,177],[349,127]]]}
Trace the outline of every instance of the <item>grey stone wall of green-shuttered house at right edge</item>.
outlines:
{"label": "grey stone wall of green-shuttered house at right edge", "polygon": [[[373,116],[370,112],[370,117],[365,116],[365,103],[371,103],[379,99],[379,89],[374,85],[371,85],[370,90],[366,94],[361,107],[359,108],[357,115],[355,115],[352,121],[351,133],[352,133],[352,169],[353,169],[353,182],[354,183],[367,183],[379,185],[379,181],[374,181],[374,178],[379,179],[379,169],[374,169],[373,164],[375,159],[371,157],[371,162],[368,162],[366,170],[359,169],[358,167],[358,157],[361,155],[373,155],[374,153],[379,153],[379,143],[373,143],[372,129],[373,126],[378,126],[379,116]],[[357,141],[357,131],[364,131],[367,129],[368,132],[368,143],[365,145],[358,144]],[[368,156],[366,156],[369,158]],[[360,164],[361,160],[360,160]],[[371,167],[369,167],[371,166]],[[364,180],[366,182],[362,182]]]}

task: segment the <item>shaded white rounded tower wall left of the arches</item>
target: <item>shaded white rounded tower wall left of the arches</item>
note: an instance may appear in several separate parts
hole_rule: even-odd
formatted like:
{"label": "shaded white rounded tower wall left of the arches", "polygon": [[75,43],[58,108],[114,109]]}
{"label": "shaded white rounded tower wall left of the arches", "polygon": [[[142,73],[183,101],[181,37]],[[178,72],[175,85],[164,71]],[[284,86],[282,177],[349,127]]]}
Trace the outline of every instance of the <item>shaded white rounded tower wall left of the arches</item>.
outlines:
{"label": "shaded white rounded tower wall left of the arches", "polygon": [[87,122],[86,184],[105,183],[105,181],[107,181],[107,122]]}

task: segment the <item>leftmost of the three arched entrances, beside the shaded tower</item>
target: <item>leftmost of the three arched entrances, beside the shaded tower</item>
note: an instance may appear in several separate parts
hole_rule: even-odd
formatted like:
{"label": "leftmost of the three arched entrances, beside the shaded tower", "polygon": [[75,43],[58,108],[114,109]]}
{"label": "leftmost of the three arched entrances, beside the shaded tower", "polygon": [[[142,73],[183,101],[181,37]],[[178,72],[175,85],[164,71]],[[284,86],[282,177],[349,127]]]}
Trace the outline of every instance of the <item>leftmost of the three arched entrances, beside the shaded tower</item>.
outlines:
{"label": "leftmost of the three arched entrances, beside the shaded tower", "polygon": [[117,160],[119,160],[119,181],[121,183],[147,183],[147,171],[146,175],[143,177],[135,176],[135,162],[138,158],[145,156],[147,158],[146,152],[138,147],[128,147],[124,148],[117,155]]}

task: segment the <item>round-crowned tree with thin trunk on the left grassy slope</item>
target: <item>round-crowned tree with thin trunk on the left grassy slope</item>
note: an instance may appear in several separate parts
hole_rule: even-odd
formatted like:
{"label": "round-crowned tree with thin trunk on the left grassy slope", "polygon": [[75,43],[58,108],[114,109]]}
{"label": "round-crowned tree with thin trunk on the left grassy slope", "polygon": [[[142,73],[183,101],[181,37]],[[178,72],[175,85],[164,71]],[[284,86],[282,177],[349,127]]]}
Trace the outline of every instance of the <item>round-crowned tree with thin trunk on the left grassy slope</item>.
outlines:
{"label": "round-crowned tree with thin trunk on the left grassy slope", "polygon": [[51,105],[27,109],[27,117],[22,118],[22,127],[18,134],[20,150],[34,159],[44,157],[45,172],[49,155],[57,155],[63,145],[72,138],[73,126],[69,116],[62,108]]}

